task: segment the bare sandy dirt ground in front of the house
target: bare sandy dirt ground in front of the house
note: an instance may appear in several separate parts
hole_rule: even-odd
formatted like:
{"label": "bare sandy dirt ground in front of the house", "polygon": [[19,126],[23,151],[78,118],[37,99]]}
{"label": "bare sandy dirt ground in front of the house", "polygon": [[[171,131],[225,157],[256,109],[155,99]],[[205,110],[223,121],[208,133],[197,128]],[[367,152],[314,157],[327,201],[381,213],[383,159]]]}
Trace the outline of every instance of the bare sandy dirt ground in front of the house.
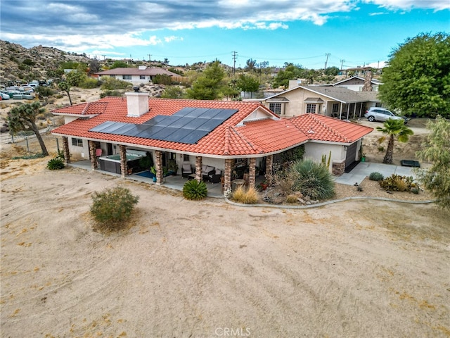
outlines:
{"label": "bare sandy dirt ground in front of the house", "polygon": [[[449,213],[435,204],[187,201],[11,159],[24,148],[1,144],[1,337],[450,337]],[[136,213],[95,232],[91,194],[117,184]]]}

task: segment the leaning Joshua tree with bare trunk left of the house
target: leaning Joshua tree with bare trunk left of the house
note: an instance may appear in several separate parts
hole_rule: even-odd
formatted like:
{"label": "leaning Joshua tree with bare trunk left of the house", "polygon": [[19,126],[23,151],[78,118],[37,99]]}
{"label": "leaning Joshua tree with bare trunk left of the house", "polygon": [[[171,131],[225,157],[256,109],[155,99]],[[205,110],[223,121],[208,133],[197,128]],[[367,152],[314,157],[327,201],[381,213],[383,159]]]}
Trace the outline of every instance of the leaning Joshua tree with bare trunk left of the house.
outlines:
{"label": "leaning Joshua tree with bare trunk left of the house", "polygon": [[32,104],[21,104],[16,106],[8,112],[8,126],[11,133],[17,133],[22,130],[32,130],[36,134],[41,151],[44,156],[49,155],[49,151],[44,144],[44,139],[41,137],[41,133],[36,125],[36,117],[40,113],[44,113],[45,109],[41,108],[40,102],[36,101]]}

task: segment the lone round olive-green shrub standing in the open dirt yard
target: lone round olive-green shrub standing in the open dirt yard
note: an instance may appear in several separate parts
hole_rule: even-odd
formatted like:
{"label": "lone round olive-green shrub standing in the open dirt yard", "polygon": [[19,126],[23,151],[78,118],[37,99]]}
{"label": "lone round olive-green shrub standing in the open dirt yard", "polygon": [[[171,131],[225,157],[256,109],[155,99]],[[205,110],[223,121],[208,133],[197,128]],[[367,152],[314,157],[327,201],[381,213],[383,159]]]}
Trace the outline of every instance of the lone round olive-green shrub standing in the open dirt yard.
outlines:
{"label": "lone round olive-green shrub standing in the open dirt yard", "polygon": [[120,230],[139,201],[129,189],[114,187],[92,195],[91,215],[100,230]]}

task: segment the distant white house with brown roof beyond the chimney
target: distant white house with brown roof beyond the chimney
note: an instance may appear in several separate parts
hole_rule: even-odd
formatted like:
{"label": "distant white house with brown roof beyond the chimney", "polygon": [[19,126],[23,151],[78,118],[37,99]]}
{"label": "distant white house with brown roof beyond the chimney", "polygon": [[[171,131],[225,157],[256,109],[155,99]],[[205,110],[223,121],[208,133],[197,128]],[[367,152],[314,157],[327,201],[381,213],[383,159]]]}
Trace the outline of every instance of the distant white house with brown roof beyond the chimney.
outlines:
{"label": "distant white house with brown roof beyond the chimney", "polygon": [[178,74],[169,72],[169,70],[159,67],[147,68],[145,65],[140,65],[139,68],[114,68],[98,72],[96,75],[98,75],[99,80],[103,76],[108,76],[134,84],[153,82],[157,75],[168,75],[174,80],[179,77]]}

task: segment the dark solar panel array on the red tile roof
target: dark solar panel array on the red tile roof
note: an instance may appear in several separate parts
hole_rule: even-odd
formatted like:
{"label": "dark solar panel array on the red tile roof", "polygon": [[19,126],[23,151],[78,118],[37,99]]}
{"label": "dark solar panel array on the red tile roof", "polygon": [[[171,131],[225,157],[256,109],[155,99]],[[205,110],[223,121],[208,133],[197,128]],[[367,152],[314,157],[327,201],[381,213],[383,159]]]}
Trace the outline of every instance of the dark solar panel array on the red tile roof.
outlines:
{"label": "dark solar panel array on the red tile roof", "polygon": [[173,115],[156,115],[142,124],[106,121],[89,131],[195,144],[237,111],[186,107]]}

